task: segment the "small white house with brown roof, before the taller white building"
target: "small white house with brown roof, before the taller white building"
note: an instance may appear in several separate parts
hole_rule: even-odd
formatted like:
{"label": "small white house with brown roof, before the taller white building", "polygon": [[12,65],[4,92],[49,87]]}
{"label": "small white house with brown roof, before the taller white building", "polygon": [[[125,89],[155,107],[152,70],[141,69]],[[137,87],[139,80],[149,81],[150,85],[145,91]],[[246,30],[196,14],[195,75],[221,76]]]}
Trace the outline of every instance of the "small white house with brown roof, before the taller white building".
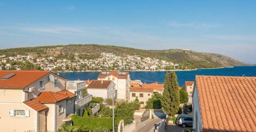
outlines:
{"label": "small white house with brown roof, before the taller white building", "polygon": [[92,80],[87,91],[96,97],[115,98],[115,83],[109,80]]}

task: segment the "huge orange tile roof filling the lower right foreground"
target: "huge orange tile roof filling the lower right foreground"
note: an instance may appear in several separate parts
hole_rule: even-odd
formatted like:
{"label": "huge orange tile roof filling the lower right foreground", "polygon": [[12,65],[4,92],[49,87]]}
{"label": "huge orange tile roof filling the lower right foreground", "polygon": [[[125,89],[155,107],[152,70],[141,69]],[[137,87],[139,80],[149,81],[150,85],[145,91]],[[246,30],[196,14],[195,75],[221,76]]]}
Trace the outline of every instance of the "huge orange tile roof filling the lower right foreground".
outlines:
{"label": "huge orange tile roof filling the lower right foreground", "polygon": [[204,132],[256,132],[256,77],[195,76],[195,80]]}

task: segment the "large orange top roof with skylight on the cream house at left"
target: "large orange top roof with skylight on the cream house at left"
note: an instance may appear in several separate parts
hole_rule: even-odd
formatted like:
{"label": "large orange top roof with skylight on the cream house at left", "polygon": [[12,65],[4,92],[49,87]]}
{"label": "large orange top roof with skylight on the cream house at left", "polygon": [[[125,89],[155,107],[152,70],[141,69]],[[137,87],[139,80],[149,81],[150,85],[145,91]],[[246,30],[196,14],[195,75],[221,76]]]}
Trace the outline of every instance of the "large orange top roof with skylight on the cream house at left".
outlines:
{"label": "large orange top roof with skylight on the cream house at left", "polygon": [[[33,82],[39,80],[43,76],[49,74],[50,71],[39,70],[21,70],[21,71],[0,71],[0,87],[1,88],[21,88],[24,89]],[[7,80],[1,78],[8,75],[15,74]]]}

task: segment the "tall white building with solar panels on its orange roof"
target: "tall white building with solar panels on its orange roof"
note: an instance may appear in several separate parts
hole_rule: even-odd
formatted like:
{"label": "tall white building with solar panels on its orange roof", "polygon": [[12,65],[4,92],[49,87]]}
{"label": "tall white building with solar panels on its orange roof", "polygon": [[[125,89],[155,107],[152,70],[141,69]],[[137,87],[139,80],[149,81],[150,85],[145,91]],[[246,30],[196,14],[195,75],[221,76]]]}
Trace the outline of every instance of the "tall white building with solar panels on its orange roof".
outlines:
{"label": "tall white building with solar panels on its orange roof", "polygon": [[111,80],[115,83],[117,100],[129,100],[130,98],[130,74],[129,72],[101,72],[98,80]]}

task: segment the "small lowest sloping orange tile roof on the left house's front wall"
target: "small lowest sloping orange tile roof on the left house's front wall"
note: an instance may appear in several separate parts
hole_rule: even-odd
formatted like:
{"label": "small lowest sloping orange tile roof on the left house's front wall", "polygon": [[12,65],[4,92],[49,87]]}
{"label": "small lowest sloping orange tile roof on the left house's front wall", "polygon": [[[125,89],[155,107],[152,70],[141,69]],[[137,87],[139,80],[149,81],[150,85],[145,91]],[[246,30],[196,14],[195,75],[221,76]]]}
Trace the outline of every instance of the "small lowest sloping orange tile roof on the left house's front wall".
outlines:
{"label": "small lowest sloping orange tile roof on the left house's front wall", "polygon": [[27,106],[29,106],[30,108],[33,108],[34,110],[36,110],[37,112],[41,111],[41,110],[46,110],[48,109],[48,106],[41,104],[38,100],[28,100],[23,102],[24,104],[26,104]]}

